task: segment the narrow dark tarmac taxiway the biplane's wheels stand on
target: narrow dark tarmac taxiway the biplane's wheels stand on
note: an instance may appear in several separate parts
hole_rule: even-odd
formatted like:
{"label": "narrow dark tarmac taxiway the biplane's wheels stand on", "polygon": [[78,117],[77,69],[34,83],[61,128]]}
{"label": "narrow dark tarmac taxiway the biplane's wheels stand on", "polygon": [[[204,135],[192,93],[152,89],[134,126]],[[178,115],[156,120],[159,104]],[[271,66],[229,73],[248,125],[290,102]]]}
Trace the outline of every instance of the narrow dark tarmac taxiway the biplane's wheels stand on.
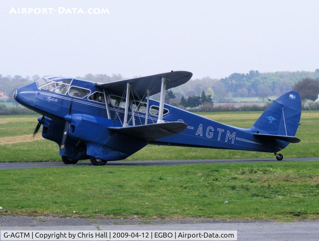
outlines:
{"label": "narrow dark tarmac taxiway the biplane's wheels stand on", "polygon": [[[319,161],[319,158],[284,158],[282,161]],[[109,161],[106,166],[171,166],[201,163],[248,163],[248,162],[278,162],[266,159],[215,159],[215,160],[160,160],[160,161]],[[3,162],[0,169],[31,168],[31,167],[68,167],[63,162]],[[93,166],[91,162],[80,161],[73,166]]]}

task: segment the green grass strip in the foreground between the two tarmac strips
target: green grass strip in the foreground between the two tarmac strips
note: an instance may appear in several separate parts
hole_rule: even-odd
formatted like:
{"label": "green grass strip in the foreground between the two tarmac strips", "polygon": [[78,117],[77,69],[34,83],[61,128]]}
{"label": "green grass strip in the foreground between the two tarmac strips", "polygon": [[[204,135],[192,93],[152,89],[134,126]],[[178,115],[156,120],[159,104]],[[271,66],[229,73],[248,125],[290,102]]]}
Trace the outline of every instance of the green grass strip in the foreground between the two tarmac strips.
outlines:
{"label": "green grass strip in the foreground between the two tarmac strips", "polygon": [[0,215],[315,219],[295,211],[319,212],[318,169],[275,162],[1,170]]}

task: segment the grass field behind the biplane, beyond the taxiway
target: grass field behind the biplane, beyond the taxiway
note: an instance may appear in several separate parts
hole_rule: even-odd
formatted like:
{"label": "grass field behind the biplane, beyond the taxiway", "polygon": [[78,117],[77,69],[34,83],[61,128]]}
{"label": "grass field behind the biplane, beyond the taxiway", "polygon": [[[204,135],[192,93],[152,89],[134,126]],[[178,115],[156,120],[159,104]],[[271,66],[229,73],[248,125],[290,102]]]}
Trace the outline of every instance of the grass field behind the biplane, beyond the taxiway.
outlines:
{"label": "grass field behind the biplane, beyond the taxiway", "polygon": [[[250,127],[261,112],[235,111],[197,113],[216,121],[242,128]],[[19,136],[32,134],[37,124],[37,116],[0,116],[1,138],[16,138],[17,143],[0,145],[0,162],[61,161],[58,145],[45,139],[32,142],[18,142]],[[290,144],[282,153],[288,157],[318,157],[319,111],[303,111],[296,136],[300,143]],[[271,153],[216,150],[174,146],[148,145],[130,156],[127,160],[166,160],[166,159],[236,159],[274,158]]]}

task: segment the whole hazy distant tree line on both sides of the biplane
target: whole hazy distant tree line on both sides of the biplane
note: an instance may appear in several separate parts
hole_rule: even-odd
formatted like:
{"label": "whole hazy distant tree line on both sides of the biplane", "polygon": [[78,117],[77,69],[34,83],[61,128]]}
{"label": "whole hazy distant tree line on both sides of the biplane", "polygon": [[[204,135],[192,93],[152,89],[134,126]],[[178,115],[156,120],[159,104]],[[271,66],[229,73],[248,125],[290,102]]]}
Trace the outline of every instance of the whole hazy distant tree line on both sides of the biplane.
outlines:
{"label": "whole hazy distant tree line on both sides of the biplane", "polygon": [[[12,96],[14,90],[39,78],[38,75],[32,77],[14,75],[12,77],[0,74],[0,91],[9,96],[6,101],[15,102]],[[104,83],[125,79],[121,74],[91,73],[77,76],[77,78]],[[204,105],[210,108],[213,101],[229,101],[232,97],[259,97],[264,100],[268,96],[279,96],[292,89],[298,91],[303,100],[315,100],[319,94],[319,69],[315,69],[314,72],[281,71],[275,73],[260,73],[258,70],[250,70],[249,73],[233,73],[220,80],[207,76],[202,79],[190,80],[182,86],[167,90],[165,102],[172,102],[171,104],[181,105],[184,108]],[[152,97],[156,99],[156,96]],[[3,101],[0,99],[0,102]]]}

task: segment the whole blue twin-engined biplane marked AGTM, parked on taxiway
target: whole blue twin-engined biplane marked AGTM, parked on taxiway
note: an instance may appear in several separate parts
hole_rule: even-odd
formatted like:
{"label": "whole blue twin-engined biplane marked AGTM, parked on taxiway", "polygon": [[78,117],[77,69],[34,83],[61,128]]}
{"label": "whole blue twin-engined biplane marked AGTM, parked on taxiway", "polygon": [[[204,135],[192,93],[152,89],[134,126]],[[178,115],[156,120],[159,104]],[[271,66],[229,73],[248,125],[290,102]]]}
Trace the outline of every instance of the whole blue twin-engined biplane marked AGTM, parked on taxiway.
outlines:
{"label": "whole blue twin-engined biplane marked AGTM, parked on taxiway", "polygon": [[[65,164],[90,159],[93,165],[122,160],[148,144],[277,152],[295,137],[301,101],[295,91],[280,96],[248,129],[198,116],[164,103],[165,90],[189,81],[192,73],[164,74],[94,83],[44,76],[17,89],[14,98],[42,117],[42,136],[60,146]],[[160,101],[150,96],[160,93]]]}

